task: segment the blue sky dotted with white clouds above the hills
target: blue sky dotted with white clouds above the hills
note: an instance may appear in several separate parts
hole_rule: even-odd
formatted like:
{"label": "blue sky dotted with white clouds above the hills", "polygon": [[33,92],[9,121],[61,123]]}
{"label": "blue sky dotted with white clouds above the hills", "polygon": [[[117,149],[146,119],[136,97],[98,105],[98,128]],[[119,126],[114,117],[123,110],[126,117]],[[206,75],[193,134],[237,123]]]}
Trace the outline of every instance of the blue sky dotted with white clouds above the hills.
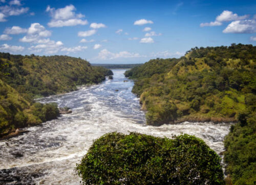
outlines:
{"label": "blue sky dotted with white clouds above the hills", "polygon": [[0,25],[2,52],[143,63],[196,46],[255,45],[256,2],[0,0]]}

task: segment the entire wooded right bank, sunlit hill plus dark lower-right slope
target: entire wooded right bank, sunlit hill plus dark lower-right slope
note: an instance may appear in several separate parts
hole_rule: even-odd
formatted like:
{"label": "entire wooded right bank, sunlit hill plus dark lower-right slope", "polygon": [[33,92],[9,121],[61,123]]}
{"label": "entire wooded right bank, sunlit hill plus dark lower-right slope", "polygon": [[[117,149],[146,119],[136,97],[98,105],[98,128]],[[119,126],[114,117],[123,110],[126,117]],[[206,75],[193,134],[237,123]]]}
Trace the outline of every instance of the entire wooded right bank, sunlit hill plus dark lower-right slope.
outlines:
{"label": "entire wooded right bank, sunlit hill plus dark lower-right slope", "polygon": [[225,139],[233,184],[256,182],[256,47],[193,48],[180,59],[150,60],[125,72],[135,79],[150,125],[238,122]]}

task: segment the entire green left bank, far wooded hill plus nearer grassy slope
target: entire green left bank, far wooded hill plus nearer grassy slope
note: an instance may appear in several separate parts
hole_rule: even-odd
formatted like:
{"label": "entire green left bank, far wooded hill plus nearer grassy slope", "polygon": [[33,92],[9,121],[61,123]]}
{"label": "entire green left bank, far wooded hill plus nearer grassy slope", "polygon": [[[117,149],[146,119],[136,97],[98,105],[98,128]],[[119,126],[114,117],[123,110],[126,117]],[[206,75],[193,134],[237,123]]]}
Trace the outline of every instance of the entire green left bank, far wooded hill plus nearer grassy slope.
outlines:
{"label": "entire green left bank, far wooded hill plus nearer grassy slope", "polygon": [[57,104],[34,103],[34,98],[76,90],[112,74],[80,58],[0,53],[0,137],[58,116]]}

